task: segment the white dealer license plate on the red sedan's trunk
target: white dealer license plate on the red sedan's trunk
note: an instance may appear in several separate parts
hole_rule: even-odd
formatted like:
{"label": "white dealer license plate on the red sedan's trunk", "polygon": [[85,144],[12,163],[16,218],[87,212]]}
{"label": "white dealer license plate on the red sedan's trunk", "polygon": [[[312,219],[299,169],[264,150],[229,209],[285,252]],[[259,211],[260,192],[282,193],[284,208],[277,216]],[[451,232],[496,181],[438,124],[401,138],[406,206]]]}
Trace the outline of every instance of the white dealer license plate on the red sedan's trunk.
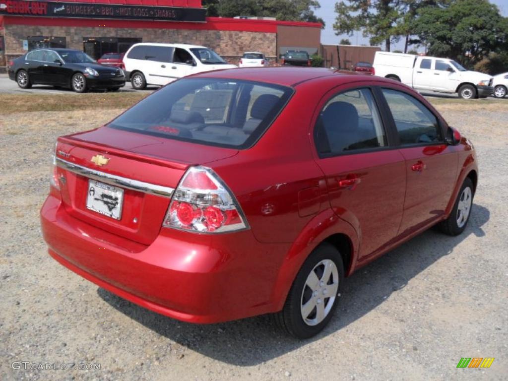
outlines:
{"label": "white dealer license plate on the red sedan's trunk", "polygon": [[122,216],[122,203],[122,188],[96,180],[88,180],[87,209],[114,219],[120,219]]}

